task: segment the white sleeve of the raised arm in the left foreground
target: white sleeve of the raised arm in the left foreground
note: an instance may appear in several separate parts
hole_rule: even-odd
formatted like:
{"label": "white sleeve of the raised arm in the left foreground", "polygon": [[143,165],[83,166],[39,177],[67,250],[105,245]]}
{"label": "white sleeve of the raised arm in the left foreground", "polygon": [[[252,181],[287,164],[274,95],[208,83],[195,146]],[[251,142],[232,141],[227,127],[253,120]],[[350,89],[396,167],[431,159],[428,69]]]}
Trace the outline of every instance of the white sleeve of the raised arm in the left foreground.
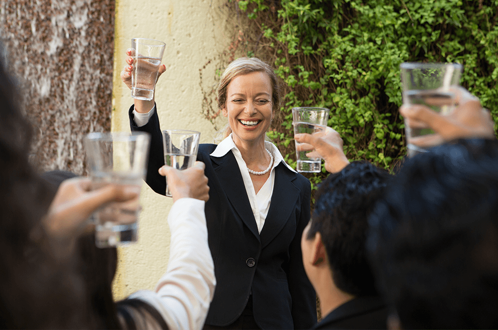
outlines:
{"label": "white sleeve of the raised arm in the left foreground", "polygon": [[155,292],[141,290],[130,296],[153,306],[169,329],[202,329],[213,299],[216,279],[204,204],[192,198],[173,204],[168,216],[171,245],[167,271]]}

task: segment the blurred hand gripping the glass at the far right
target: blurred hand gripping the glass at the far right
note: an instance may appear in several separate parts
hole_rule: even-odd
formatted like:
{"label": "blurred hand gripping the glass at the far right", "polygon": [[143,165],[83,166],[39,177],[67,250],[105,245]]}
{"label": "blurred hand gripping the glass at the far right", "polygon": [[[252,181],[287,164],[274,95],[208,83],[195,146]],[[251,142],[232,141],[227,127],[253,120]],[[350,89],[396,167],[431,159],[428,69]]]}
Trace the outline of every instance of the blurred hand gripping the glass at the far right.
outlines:
{"label": "blurred hand gripping the glass at the far right", "polygon": [[399,113],[405,118],[405,124],[412,127],[430,127],[435,132],[411,138],[410,143],[427,147],[457,138],[496,138],[495,122],[490,111],[482,108],[479,99],[463,87],[454,92],[457,107],[447,115],[422,105],[399,108]]}

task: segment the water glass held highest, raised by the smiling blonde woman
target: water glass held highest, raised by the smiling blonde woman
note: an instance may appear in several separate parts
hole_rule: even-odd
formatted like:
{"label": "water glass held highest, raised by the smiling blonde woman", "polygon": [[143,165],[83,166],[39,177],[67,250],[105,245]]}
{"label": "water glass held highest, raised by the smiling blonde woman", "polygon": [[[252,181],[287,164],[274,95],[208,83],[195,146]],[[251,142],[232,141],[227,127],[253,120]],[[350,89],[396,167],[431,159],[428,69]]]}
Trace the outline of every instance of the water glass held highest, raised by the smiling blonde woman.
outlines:
{"label": "water glass held highest, raised by the smiling blonde woman", "polygon": [[131,97],[150,101],[166,44],[153,39],[133,38],[133,70],[131,71]]}

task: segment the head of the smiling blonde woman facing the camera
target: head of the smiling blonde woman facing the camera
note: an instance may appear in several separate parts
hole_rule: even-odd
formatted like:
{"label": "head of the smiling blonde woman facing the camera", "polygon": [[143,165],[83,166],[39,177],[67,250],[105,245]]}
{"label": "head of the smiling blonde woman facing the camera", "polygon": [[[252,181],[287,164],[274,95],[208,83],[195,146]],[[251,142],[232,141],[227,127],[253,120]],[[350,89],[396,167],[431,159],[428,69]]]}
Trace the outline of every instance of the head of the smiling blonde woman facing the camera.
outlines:
{"label": "head of the smiling blonde woman facing the camera", "polygon": [[225,69],[218,84],[218,108],[229,118],[232,131],[266,133],[279,107],[280,88],[270,65],[256,57],[243,57]]}

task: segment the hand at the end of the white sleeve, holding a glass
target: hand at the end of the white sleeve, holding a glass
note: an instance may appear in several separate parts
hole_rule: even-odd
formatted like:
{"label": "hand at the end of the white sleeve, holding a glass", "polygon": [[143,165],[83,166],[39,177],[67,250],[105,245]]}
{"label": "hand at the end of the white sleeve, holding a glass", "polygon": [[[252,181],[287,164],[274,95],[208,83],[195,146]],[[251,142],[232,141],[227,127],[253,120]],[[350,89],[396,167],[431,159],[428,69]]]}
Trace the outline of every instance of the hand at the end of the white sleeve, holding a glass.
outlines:
{"label": "hand at the end of the white sleeve, holding a glass", "polygon": [[195,198],[207,202],[209,200],[208,178],[204,175],[203,162],[196,161],[193,167],[186,170],[177,170],[164,165],[159,174],[166,176],[167,185],[173,202],[180,198]]}

